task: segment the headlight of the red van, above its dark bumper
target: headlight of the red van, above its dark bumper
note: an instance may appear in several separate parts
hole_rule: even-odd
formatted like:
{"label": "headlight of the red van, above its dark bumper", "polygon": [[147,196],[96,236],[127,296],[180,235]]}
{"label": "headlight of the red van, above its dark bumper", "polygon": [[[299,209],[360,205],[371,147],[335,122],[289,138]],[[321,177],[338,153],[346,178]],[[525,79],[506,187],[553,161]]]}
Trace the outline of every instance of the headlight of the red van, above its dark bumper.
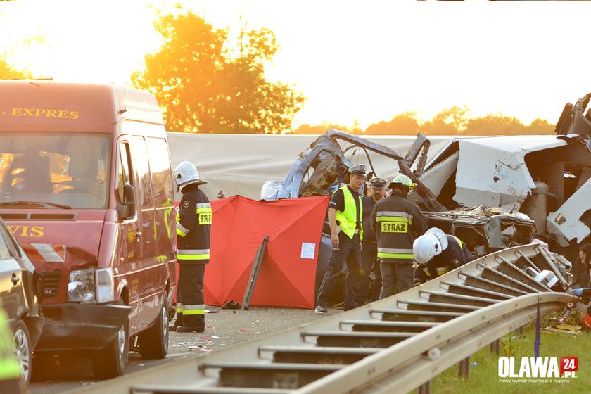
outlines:
{"label": "headlight of the red van, above its dark bumper", "polygon": [[74,303],[110,303],[115,300],[113,269],[80,269],[70,272],[67,300]]}

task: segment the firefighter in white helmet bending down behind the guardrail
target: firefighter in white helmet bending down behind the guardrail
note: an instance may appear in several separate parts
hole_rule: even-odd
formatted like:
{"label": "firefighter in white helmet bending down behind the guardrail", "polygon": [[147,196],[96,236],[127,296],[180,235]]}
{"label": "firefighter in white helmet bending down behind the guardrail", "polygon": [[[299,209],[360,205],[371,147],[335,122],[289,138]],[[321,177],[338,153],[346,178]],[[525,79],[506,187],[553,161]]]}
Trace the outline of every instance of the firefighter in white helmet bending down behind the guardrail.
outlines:
{"label": "firefighter in white helmet bending down behind the guardrail", "polygon": [[414,284],[423,284],[474,259],[468,246],[457,236],[445,234],[432,227],[412,244],[414,255]]}

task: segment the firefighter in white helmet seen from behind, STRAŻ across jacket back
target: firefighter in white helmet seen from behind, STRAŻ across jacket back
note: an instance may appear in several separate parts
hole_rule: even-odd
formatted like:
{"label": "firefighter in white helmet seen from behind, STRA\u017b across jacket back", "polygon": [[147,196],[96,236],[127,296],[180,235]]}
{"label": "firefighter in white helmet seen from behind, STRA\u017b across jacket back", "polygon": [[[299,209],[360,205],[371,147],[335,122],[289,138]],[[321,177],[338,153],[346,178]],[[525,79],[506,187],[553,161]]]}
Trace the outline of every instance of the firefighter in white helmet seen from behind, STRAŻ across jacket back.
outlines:
{"label": "firefighter in white helmet seen from behind, STRA\u017b across jacket back", "polygon": [[370,223],[376,231],[382,277],[380,298],[414,285],[412,243],[427,228],[427,219],[419,205],[407,198],[416,186],[409,177],[398,174],[390,182],[391,195],[378,201],[371,212]]}

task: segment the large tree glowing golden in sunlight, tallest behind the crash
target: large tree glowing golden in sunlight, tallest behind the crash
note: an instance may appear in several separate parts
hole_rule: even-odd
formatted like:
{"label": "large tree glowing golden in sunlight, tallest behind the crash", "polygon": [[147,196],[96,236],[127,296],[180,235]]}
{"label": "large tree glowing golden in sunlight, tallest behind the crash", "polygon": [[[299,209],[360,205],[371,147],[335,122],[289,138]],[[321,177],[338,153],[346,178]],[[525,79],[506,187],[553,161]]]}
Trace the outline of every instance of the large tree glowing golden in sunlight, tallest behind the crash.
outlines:
{"label": "large tree glowing golden in sunlight, tallest behind the crash", "polygon": [[287,84],[269,82],[265,63],[278,45],[271,30],[241,31],[232,56],[227,31],[203,18],[163,15],[156,23],[164,44],[132,75],[158,98],[167,127],[178,132],[281,133],[291,131],[305,98]]}

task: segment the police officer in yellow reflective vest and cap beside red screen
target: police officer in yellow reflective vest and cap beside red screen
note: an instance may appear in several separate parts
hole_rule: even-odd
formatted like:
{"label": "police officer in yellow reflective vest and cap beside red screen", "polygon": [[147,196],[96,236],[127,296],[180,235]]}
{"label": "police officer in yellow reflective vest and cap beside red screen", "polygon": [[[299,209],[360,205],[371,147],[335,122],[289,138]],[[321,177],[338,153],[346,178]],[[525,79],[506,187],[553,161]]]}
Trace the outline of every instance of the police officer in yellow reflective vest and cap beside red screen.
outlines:
{"label": "police officer in yellow reflective vest and cap beside red screen", "polygon": [[[347,263],[345,275],[345,306],[344,310],[363,305],[367,296],[367,283],[364,281],[367,272],[361,267],[362,203],[359,190],[365,182],[365,165],[353,165],[348,170],[349,183],[337,189],[329,203],[329,225],[331,227],[332,251],[329,267],[324,273],[322,284],[316,300],[316,314],[328,312],[333,286],[341,275],[343,264]],[[362,287],[366,285],[365,292]]]}

